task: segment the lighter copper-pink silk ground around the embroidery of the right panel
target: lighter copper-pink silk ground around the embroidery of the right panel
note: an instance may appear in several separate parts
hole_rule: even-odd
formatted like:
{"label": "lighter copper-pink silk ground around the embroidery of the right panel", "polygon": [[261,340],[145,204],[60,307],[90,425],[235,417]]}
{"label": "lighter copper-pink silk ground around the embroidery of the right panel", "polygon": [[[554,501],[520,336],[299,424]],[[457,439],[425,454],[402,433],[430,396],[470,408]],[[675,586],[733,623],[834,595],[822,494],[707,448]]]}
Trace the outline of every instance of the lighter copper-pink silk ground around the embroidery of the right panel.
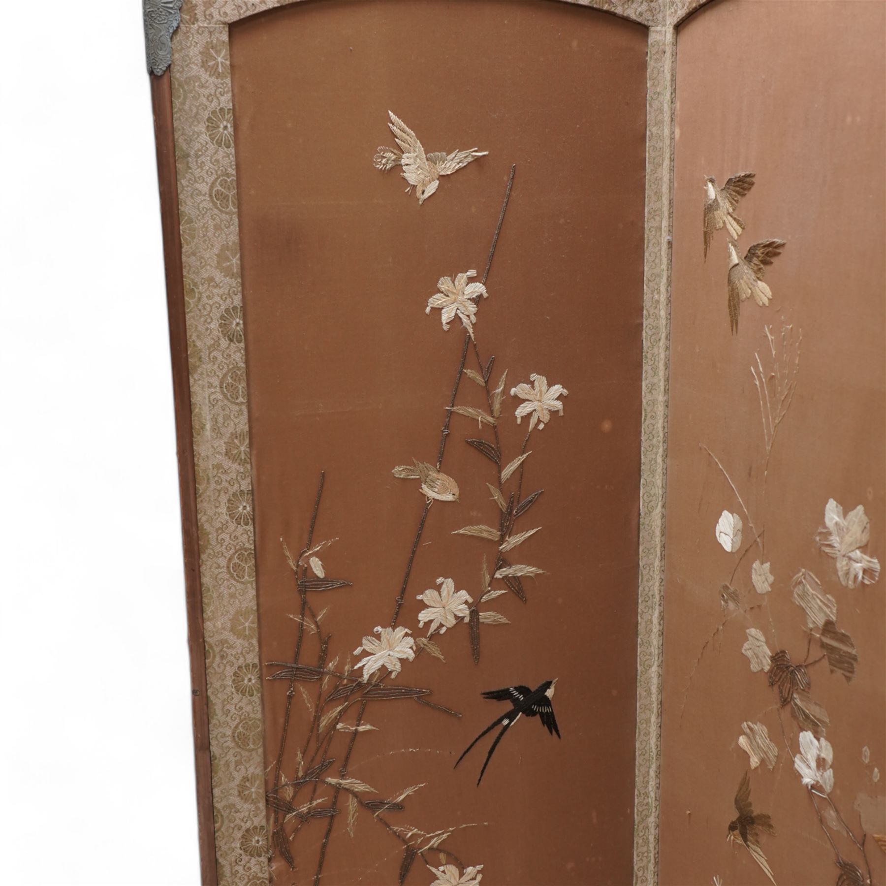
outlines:
{"label": "lighter copper-pink silk ground around the embroidery of the right panel", "polygon": [[[750,775],[757,812],[772,815],[777,835],[762,848],[775,879],[836,882],[834,853],[811,798],[793,769],[797,724],[779,726],[765,673],[742,655],[745,630],[757,627],[769,649],[806,653],[804,613],[791,579],[812,571],[837,605],[837,626],[858,648],[847,684],[822,661],[809,669],[812,697],[830,718],[832,797],[859,834],[857,797],[876,798],[884,828],[886,770],[886,579],[843,587],[835,561],[813,537],[828,498],[845,512],[864,505],[871,540],[863,551],[886,559],[886,375],[884,316],[884,7],[879,0],[796,3],[731,0],[703,9],[680,27],[677,64],[673,211],[671,401],[668,440],[667,566],[664,615],[661,854],[663,884],[768,882],[741,846],[726,842],[733,798],[748,755],[737,745],[743,720],[762,722],[779,749],[773,772]],[[757,183],[737,214],[747,224],[742,254],[766,237],[788,245],[767,269],[773,304],[742,306],[738,334],[727,315],[727,237],[719,231],[703,260],[703,177],[753,170]],[[764,323],[803,332],[796,396],[764,476],[764,440],[750,373],[755,351],[766,360]],[[753,532],[726,479],[700,444],[729,472],[764,532],[774,583],[767,601],[751,586],[751,550],[732,579],[741,612],[720,609]],[[764,494],[764,488],[766,494]],[[724,509],[744,522],[742,545],[728,554],[715,539]],[[718,630],[722,626],[722,630]],[[810,657],[819,657],[812,641]],[[774,705],[774,706],[773,706]],[[786,709],[787,711],[787,709]],[[867,746],[869,762],[862,759]],[[870,801],[862,799],[862,804]],[[828,803],[819,800],[822,812]],[[874,804],[875,806],[875,804]],[[829,820],[829,819],[828,819]],[[850,840],[831,829],[844,858],[864,865]],[[883,833],[883,830],[880,830]],[[886,856],[868,836],[874,882]],[[867,876],[867,873],[865,874]]]}

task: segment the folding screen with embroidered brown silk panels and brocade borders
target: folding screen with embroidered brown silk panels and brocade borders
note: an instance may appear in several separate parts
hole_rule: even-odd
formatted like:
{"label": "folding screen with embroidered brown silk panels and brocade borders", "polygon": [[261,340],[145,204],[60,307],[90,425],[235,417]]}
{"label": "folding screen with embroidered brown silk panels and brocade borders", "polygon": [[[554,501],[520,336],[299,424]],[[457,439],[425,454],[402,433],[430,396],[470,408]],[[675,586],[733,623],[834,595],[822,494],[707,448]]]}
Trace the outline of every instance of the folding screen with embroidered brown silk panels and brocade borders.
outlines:
{"label": "folding screen with embroidered brown silk panels and brocade borders", "polygon": [[882,6],[144,3],[204,882],[875,880]]}

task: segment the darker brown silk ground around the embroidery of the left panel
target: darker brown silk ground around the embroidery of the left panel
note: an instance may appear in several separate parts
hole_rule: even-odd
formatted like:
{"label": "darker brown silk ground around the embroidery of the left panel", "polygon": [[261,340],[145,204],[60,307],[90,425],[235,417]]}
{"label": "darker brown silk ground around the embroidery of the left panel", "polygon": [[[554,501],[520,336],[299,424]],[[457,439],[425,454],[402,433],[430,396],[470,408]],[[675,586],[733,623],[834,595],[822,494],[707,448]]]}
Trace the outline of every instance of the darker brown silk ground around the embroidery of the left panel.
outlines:
{"label": "darker brown silk ground around the embroidery of the left panel", "polygon": [[[287,616],[299,600],[280,538],[293,553],[304,544],[321,469],[315,539],[338,539],[321,554],[327,574],[354,582],[311,598],[330,607],[330,657],[342,667],[364,634],[390,624],[424,507],[417,483],[391,471],[436,462],[464,338],[457,320],[444,332],[439,311],[424,308],[440,276],[482,275],[516,163],[477,340],[484,359],[495,355],[494,382],[504,369],[508,389],[538,372],[569,391],[564,415],[532,432],[524,493],[545,492],[521,522],[543,528],[511,555],[549,574],[524,579],[525,604],[509,594],[481,607],[511,624],[482,626],[478,666],[463,624],[436,638],[446,664],[404,664],[395,685],[431,688],[462,719],[409,701],[370,704],[378,731],[359,735],[350,774],[381,797],[426,783],[391,823],[478,825],[446,845],[484,865],[488,882],[630,882],[647,32],[530,0],[330,0],[246,19],[230,44],[262,661],[293,655]],[[428,151],[489,156],[419,206],[396,172],[372,166],[377,145],[392,144],[389,108]],[[466,365],[477,369],[472,353]],[[479,408],[482,398],[463,378],[459,402]],[[527,427],[517,427],[518,402],[506,398],[503,462]],[[461,498],[428,516],[400,616],[416,636],[416,595],[444,576],[476,599],[481,559],[494,556],[494,543],[451,534],[497,520],[486,488],[494,465],[464,443],[478,436],[491,439],[454,416],[443,470]],[[315,661],[314,637],[306,650]],[[481,691],[552,678],[562,741],[525,720],[479,788],[492,736],[453,771],[502,712]],[[317,684],[302,685],[314,695]],[[268,765],[285,699],[284,682],[264,684]],[[287,776],[307,722],[297,687]],[[333,746],[330,774],[346,741]],[[400,843],[365,812],[352,839],[345,817],[323,882],[395,882]],[[312,823],[294,844],[299,882],[314,874],[325,826]],[[279,857],[275,869],[290,882]],[[429,878],[416,862],[407,882]]]}

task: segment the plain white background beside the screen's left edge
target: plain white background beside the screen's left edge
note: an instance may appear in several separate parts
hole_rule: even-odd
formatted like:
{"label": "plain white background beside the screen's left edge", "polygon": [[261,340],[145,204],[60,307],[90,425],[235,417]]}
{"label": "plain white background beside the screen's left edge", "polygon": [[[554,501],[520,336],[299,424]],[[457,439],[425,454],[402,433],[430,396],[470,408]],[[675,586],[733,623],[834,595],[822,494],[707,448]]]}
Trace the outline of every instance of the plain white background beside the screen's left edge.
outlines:
{"label": "plain white background beside the screen's left edge", "polygon": [[0,10],[0,882],[198,883],[141,3]]}

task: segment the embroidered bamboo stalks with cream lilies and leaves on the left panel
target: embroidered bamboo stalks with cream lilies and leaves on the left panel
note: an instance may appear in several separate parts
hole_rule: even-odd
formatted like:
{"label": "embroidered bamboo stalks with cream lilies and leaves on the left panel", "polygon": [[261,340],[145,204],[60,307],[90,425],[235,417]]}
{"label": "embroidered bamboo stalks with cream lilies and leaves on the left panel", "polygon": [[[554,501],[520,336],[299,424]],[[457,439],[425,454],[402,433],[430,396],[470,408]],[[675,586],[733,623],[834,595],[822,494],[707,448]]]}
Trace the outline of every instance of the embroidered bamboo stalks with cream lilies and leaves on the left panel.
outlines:
{"label": "embroidered bamboo stalks with cream lilies and leaves on the left panel", "polygon": [[[398,133],[412,135],[411,130],[402,127],[400,121],[393,115],[392,129],[395,135]],[[401,165],[404,168],[413,162],[413,157],[418,152],[424,153],[417,139],[415,144],[411,145],[413,150],[409,152],[407,150],[409,145],[401,144],[406,140],[405,137],[401,139],[398,136],[398,144],[404,152],[401,157]],[[379,150],[381,152],[383,149]],[[478,152],[472,153],[470,159],[481,155]],[[409,156],[410,154],[413,156]],[[390,159],[390,155],[385,156]],[[429,155],[429,159],[432,156]],[[465,162],[470,162],[470,159]],[[439,175],[446,174],[439,168],[437,172]],[[414,702],[430,708],[431,711],[437,711],[439,715],[460,717],[461,715],[447,704],[439,703],[431,689],[405,685],[403,671],[424,653],[445,662],[446,656],[439,646],[439,638],[444,633],[457,630],[462,623],[467,625],[470,654],[474,662],[478,663],[481,627],[486,629],[486,627],[509,624],[509,618],[498,611],[486,608],[485,604],[496,597],[510,594],[517,596],[520,602],[526,602],[525,579],[544,574],[540,567],[512,562],[511,552],[540,531],[540,526],[524,529],[517,523],[538,501],[543,491],[539,489],[532,494],[523,494],[525,462],[532,455],[532,450],[527,446],[532,431],[536,427],[538,430],[543,429],[550,421],[552,412],[563,415],[563,403],[558,398],[565,396],[566,391],[562,385],[548,387],[547,380],[536,374],[530,376],[532,385],[522,384],[511,389],[512,396],[524,400],[515,409],[517,423],[519,424],[523,417],[530,416],[530,424],[521,451],[506,462],[499,436],[499,423],[504,409],[508,373],[503,372],[495,385],[491,383],[495,358],[490,356],[487,360],[483,359],[475,330],[478,321],[478,304],[489,296],[486,291],[486,279],[507,211],[514,174],[515,167],[511,167],[501,214],[481,280],[473,282],[477,276],[474,270],[458,274],[455,278],[440,277],[438,292],[428,299],[425,308],[427,314],[430,314],[432,309],[439,308],[444,331],[448,330],[449,324],[457,318],[464,330],[464,340],[452,395],[445,408],[445,420],[436,460],[432,462],[430,458],[424,461],[412,457],[411,463],[401,464],[392,469],[396,478],[416,484],[413,488],[416,488],[424,498],[424,507],[419,514],[415,538],[406,558],[400,591],[394,600],[392,618],[387,624],[383,622],[374,626],[370,633],[363,636],[360,645],[350,653],[350,656],[354,657],[353,661],[351,657],[347,657],[345,664],[339,664],[341,653],[330,660],[331,633],[326,630],[323,622],[326,610],[318,612],[315,608],[317,594],[350,586],[347,579],[330,577],[330,567],[323,562],[331,560],[330,552],[324,552],[323,559],[319,556],[325,548],[330,547],[331,541],[319,544],[315,544],[314,541],[325,484],[324,473],[321,473],[307,536],[298,556],[291,556],[284,543],[284,556],[287,557],[295,579],[299,614],[293,616],[297,627],[292,660],[266,663],[268,667],[276,668],[276,671],[268,674],[267,679],[281,681],[288,687],[280,744],[276,761],[272,766],[271,786],[267,792],[271,830],[269,852],[271,858],[279,856],[291,869],[295,869],[299,858],[297,851],[299,834],[306,828],[315,826],[316,821],[320,821],[323,839],[314,872],[315,886],[318,886],[323,875],[335,822],[342,812],[345,813],[342,817],[342,827],[346,834],[354,835],[362,813],[374,822],[374,826],[384,829],[392,839],[400,843],[402,855],[397,874],[400,884],[406,882],[416,860],[424,863],[429,872],[436,877],[438,884],[445,886],[474,886],[479,883],[483,875],[480,873],[482,865],[466,865],[444,845],[456,831],[474,825],[461,823],[436,831],[398,827],[393,824],[391,817],[407,809],[408,797],[417,789],[424,788],[424,785],[379,791],[355,779],[350,773],[350,766],[358,736],[363,732],[384,729],[385,705],[380,704],[382,702]],[[404,172],[404,175],[407,173]],[[421,190],[420,183],[414,183],[419,189],[419,202],[433,193],[436,184],[434,180],[430,185],[424,185],[424,190]],[[470,352],[476,360],[476,369],[466,366]],[[464,377],[468,377],[474,384],[483,388],[486,409],[462,406],[457,402]],[[414,634],[412,626],[400,624],[400,621],[405,615],[404,602],[407,600],[410,579],[416,568],[416,556],[428,526],[432,506],[439,502],[438,509],[455,507],[459,500],[459,485],[456,478],[450,477],[442,470],[447,439],[453,432],[453,416],[462,416],[470,422],[478,423],[478,434],[466,435],[465,442],[480,457],[478,471],[483,469],[484,464],[492,462],[489,465],[491,469],[489,479],[494,481],[471,478],[472,482],[488,488],[491,494],[490,511],[493,515],[491,525],[464,526],[455,534],[488,541],[490,543],[488,562],[492,563],[492,567],[489,568],[486,556],[481,563],[478,563],[477,590],[456,589],[455,581],[451,578],[428,579],[424,593],[414,595],[424,608],[413,614],[410,607],[409,618],[416,618],[415,630],[418,633]],[[491,431],[492,439],[483,435],[485,430]],[[429,584],[435,587],[428,587]],[[481,606],[482,610],[479,608]],[[308,642],[315,648],[315,657],[310,664],[307,659]],[[543,688],[544,691],[539,698],[535,697],[538,695],[538,690],[532,694],[527,689],[525,694],[529,698],[526,701],[528,707],[522,712],[527,716],[540,716],[548,731],[556,730],[559,735],[553,709],[550,708],[554,682],[548,681],[542,684],[540,689]],[[517,689],[522,688],[517,687]],[[300,734],[296,736],[293,729],[292,707],[293,699],[298,696],[301,696],[307,709],[307,727],[303,731],[299,730]],[[497,741],[495,743],[497,744]],[[397,752],[397,749],[392,752]],[[332,766],[336,768],[332,769]],[[290,773],[289,777],[284,772]],[[431,861],[431,852],[439,853],[439,864],[436,866]]]}

